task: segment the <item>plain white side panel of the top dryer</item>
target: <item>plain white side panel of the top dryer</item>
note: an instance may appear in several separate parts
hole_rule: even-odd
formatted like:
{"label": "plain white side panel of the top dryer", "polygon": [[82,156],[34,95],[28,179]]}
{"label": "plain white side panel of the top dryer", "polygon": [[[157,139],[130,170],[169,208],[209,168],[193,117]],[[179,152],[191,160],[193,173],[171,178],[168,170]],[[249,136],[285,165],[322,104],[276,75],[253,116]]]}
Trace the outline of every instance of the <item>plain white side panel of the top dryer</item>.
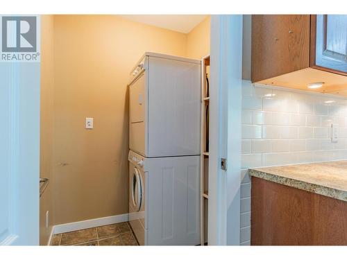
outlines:
{"label": "plain white side panel of the top dryer", "polygon": [[149,58],[148,157],[199,155],[201,65]]}

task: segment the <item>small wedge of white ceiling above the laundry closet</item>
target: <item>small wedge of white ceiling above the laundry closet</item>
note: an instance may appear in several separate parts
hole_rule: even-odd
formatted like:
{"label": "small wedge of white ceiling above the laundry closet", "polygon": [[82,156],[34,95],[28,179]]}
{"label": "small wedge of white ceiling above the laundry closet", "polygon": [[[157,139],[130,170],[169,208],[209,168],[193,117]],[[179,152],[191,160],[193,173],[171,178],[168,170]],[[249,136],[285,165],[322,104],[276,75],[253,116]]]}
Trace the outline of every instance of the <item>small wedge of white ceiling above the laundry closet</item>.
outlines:
{"label": "small wedge of white ceiling above the laundry closet", "polygon": [[126,19],[169,29],[180,33],[189,33],[200,24],[207,15],[120,15]]}

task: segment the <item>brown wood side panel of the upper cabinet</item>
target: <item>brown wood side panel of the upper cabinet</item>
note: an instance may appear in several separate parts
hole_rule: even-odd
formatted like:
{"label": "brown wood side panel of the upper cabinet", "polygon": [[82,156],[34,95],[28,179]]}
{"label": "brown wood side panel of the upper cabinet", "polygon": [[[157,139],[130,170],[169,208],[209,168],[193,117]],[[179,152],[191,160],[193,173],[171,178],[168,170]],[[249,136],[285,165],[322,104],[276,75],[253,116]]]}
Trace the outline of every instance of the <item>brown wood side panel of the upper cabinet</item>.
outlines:
{"label": "brown wood side panel of the upper cabinet", "polygon": [[252,15],[253,82],[310,66],[310,15]]}

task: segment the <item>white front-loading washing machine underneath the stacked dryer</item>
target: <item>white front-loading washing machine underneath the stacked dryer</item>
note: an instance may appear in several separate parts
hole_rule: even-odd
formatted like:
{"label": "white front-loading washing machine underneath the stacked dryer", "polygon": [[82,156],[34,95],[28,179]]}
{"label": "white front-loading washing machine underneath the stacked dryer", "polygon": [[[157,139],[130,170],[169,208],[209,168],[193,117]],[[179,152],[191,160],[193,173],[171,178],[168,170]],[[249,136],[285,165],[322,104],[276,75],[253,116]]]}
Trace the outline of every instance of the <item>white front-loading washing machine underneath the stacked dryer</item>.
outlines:
{"label": "white front-loading washing machine underneath the stacked dryer", "polygon": [[146,158],[130,150],[129,222],[140,245],[200,243],[200,156]]}

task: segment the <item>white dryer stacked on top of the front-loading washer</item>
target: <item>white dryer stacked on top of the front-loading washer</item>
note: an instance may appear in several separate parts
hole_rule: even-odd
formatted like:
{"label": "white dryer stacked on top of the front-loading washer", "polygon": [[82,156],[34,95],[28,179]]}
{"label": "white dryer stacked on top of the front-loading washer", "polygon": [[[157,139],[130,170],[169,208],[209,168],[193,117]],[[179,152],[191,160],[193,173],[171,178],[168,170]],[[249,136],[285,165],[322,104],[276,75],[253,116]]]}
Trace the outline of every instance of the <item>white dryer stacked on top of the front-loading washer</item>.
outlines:
{"label": "white dryer stacked on top of the front-loading washer", "polygon": [[145,53],[130,73],[130,150],[200,154],[201,62]]}

